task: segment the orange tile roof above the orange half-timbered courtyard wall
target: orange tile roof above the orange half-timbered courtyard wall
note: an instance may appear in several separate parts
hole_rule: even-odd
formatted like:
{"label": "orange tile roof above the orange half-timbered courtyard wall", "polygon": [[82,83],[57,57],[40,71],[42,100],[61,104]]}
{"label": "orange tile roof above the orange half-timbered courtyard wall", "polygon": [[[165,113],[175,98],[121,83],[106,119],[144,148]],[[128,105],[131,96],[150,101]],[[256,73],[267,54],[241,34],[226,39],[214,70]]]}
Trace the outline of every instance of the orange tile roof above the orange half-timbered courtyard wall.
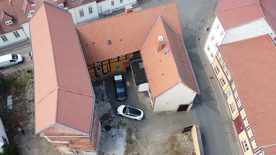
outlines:
{"label": "orange tile roof above the orange half-timbered courtyard wall", "polygon": [[177,2],[76,26],[87,64],[139,51],[159,14],[182,35]]}

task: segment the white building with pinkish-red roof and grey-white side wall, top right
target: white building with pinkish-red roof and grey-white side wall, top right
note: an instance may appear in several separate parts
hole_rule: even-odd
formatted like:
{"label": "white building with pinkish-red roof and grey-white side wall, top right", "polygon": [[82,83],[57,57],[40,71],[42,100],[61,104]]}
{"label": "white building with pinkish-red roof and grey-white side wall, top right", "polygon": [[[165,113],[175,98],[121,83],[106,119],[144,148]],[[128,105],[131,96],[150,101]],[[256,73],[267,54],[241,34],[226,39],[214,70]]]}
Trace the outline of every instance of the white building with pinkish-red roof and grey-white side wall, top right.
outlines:
{"label": "white building with pinkish-red roof and grey-white side wall, top right", "polygon": [[[239,2],[233,2],[239,3]],[[218,53],[218,45],[269,34],[272,39],[276,37],[275,30],[262,13],[259,2],[247,6],[227,6],[226,0],[221,0],[215,11],[216,18],[210,27],[204,51],[210,64]],[[275,16],[275,14],[274,14]],[[231,18],[233,17],[233,19]]]}

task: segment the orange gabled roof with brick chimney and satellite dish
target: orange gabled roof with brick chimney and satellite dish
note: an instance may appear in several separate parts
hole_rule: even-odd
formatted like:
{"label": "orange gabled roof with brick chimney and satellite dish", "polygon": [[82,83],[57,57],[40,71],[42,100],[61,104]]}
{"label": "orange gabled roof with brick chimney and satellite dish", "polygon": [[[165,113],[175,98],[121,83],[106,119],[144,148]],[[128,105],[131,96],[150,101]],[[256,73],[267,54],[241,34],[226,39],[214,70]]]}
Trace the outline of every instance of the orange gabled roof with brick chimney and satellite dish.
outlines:
{"label": "orange gabled roof with brick chimney and satellite dish", "polygon": [[[159,53],[156,51],[158,36],[163,36],[166,44]],[[165,48],[169,50],[167,54],[164,54]],[[200,94],[182,37],[161,15],[147,37],[141,55],[153,98],[179,83]]]}

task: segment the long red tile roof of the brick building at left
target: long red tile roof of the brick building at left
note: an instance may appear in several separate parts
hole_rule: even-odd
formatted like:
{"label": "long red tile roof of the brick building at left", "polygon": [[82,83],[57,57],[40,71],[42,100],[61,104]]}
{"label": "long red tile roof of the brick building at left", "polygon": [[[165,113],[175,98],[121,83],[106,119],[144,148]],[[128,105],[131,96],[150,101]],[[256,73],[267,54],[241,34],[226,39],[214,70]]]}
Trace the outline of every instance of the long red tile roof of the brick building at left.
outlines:
{"label": "long red tile roof of the brick building at left", "polygon": [[56,123],[89,135],[94,94],[71,14],[43,2],[30,34],[35,132]]}

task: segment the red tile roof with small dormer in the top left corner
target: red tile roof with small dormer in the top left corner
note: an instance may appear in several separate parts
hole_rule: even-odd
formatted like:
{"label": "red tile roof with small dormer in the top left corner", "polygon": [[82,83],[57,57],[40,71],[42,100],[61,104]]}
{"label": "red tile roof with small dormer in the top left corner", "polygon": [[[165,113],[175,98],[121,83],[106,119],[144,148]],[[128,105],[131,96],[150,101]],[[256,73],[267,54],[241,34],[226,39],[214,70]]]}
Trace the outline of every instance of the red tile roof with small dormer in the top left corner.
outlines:
{"label": "red tile roof with small dormer in the top left corner", "polygon": [[[0,10],[1,10],[1,15],[0,15],[0,19],[1,19],[0,33],[1,34],[18,30],[21,28],[21,26],[18,23],[18,20],[16,19],[16,15],[7,0],[0,1]],[[5,21],[11,20],[11,19],[13,19],[12,20],[13,24],[6,25]]]}

